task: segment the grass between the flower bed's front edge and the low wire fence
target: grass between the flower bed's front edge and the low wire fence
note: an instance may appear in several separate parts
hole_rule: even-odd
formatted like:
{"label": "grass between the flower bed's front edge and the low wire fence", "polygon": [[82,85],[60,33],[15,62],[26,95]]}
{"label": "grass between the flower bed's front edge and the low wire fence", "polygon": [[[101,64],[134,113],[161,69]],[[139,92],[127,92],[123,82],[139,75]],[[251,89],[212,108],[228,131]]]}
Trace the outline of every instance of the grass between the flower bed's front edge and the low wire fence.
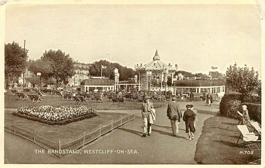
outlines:
{"label": "grass between the flower bed's front edge and the low wire fence", "polygon": [[99,116],[88,118],[82,121],[72,122],[66,125],[48,125],[37,121],[17,117],[12,115],[11,113],[12,111],[5,111],[5,121],[16,122],[51,138],[62,140],[80,135],[84,131],[89,131],[102,123],[125,115],[124,113],[96,112]]}

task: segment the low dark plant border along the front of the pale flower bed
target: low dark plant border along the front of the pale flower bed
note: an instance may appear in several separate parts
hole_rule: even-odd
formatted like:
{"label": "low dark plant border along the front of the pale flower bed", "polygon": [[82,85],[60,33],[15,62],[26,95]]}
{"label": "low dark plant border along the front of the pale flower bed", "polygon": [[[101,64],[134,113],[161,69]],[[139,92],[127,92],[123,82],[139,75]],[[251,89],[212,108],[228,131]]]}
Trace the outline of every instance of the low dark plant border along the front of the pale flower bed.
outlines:
{"label": "low dark plant border along the front of the pale flower bed", "polygon": [[92,118],[92,117],[98,116],[98,114],[96,114],[96,113],[91,113],[91,114],[87,114],[86,116],[74,117],[74,118],[69,118],[69,119],[61,120],[61,121],[49,121],[49,120],[44,120],[44,119],[41,119],[38,117],[28,116],[26,114],[20,114],[19,112],[13,112],[12,114],[14,116],[17,116],[17,117],[26,118],[26,119],[32,120],[32,121],[38,121],[38,122],[45,123],[48,125],[66,125],[66,124],[69,124],[72,122],[81,121],[81,120],[85,120],[87,118]]}

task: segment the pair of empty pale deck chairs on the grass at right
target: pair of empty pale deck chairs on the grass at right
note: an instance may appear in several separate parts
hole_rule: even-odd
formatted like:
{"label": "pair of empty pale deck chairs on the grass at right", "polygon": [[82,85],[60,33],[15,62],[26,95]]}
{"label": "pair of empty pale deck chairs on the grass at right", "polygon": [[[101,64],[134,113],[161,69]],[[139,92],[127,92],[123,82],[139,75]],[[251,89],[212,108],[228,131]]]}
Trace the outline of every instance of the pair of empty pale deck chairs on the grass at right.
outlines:
{"label": "pair of empty pale deck chairs on the grass at right", "polygon": [[[254,120],[250,120],[250,125],[251,126],[247,126],[247,125],[237,125],[237,129],[240,132],[240,136],[236,142],[237,145],[248,145],[250,151],[260,151],[261,148],[258,144],[258,142],[261,142],[261,125],[254,121]],[[238,142],[240,140],[243,140],[242,143],[238,144]],[[255,143],[258,145],[259,149],[251,149],[250,148],[250,144]]]}

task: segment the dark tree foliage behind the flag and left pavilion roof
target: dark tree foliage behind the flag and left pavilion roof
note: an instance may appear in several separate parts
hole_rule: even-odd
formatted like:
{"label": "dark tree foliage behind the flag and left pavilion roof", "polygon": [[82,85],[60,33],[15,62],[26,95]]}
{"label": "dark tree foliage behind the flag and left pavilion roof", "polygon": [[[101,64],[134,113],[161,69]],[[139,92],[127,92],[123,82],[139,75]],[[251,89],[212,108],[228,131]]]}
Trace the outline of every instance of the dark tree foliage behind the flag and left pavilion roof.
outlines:
{"label": "dark tree foliage behind the flag and left pavilion roof", "polygon": [[106,69],[102,69],[102,76],[114,79],[114,69],[118,68],[120,77],[119,81],[128,80],[128,78],[134,78],[134,75],[137,74],[133,69],[123,67],[118,63],[111,63],[107,60],[95,61],[89,67],[90,76],[101,76],[101,65],[106,66]]}

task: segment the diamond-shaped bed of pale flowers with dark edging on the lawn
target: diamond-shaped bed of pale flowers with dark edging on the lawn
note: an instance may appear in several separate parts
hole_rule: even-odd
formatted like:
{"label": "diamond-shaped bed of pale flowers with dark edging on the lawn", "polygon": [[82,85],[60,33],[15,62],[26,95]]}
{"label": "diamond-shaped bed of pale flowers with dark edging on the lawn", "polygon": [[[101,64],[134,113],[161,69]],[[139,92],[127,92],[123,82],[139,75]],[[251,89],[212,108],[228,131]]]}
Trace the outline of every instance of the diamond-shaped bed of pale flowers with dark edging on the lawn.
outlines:
{"label": "diamond-shaped bed of pale flowers with dark edging on the lawn", "polygon": [[14,112],[12,114],[18,117],[46,123],[49,125],[65,125],[71,122],[98,116],[98,114],[96,114],[95,112],[95,109],[88,108],[86,106],[52,107],[49,105],[34,105],[21,107],[17,109],[17,112]]}

